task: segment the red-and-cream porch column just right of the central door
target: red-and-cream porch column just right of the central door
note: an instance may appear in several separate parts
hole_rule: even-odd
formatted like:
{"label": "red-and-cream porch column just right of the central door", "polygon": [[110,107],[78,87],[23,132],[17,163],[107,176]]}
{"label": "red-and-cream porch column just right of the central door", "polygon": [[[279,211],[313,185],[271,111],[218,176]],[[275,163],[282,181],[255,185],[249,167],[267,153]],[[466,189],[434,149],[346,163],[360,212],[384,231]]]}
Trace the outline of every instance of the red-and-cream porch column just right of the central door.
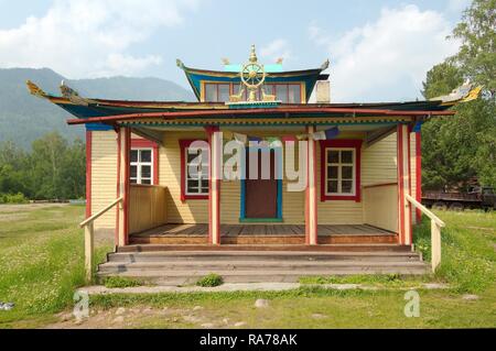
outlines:
{"label": "red-and-cream porch column just right of the central door", "polygon": [[[315,132],[315,127],[306,127],[306,133],[310,134],[313,132]],[[309,245],[316,245],[319,243],[316,197],[316,142],[312,138],[309,138],[305,190],[305,242]]]}

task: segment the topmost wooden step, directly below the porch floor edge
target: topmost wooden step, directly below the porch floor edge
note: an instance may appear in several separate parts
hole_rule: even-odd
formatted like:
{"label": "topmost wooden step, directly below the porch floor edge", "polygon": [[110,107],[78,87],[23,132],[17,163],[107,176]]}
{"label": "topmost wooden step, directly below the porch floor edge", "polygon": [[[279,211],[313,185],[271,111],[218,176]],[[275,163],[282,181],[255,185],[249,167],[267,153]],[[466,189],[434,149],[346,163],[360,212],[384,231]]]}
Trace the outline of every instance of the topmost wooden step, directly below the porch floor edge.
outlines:
{"label": "topmost wooden step, directly below the porch floor edge", "polygon": [[369,243],[369,244],[325,244],[325,245],[278,245],[278,244],[234,244],[234,245],[211,245],[211,244],[132,244],[118,248],[118,252],[150,252],[150,251],[303,251],[303,252],[410,252],[410,245],[399,245],[396,243]]}

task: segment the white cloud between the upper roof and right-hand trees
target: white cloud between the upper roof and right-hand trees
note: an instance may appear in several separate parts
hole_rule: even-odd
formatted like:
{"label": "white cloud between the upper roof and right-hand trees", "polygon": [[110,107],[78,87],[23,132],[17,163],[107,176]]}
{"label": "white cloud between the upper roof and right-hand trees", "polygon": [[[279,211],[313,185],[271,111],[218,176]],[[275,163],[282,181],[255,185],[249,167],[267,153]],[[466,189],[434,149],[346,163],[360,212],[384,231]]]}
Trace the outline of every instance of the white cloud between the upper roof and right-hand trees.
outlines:
{"label": "white cloud between the upper roof and right-hand trees", "polygon": [[416,99],[427,72],[456,53],[452,26],[441,13],[416,6],[384,8],[374,23],[333,40],[316,23],[310,39],[331,55],[332,100]]}

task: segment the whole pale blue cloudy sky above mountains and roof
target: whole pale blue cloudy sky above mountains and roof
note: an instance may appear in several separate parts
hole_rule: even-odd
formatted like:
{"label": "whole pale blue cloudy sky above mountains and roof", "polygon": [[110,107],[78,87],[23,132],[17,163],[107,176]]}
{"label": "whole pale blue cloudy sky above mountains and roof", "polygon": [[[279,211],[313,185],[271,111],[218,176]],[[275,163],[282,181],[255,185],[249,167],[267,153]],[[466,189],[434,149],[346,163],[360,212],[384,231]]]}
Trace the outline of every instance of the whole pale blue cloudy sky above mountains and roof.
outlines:
{"label": "whole pale blue cloudy sky above mountains and roof", "polygon": [[455,54],[446,40],[470,0],[0,0],[0,68],[66,78],[160,77],[175,65],[223,69],[283,58],[285,70],[330,59],[332,102],[414,100],[427,72]]}

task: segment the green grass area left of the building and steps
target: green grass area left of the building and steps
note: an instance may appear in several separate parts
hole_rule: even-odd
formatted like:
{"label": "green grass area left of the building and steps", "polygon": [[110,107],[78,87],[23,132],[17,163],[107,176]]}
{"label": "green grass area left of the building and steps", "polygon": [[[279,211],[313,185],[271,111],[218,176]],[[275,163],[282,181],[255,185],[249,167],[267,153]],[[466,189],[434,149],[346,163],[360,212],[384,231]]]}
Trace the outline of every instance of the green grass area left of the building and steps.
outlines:
{"label": "green grass area left of the building and steps", "polygon": [[[7,211],[8,212],[8,211]],[[84,281],[82,206],[43,207],[6,213],[0,208],[0,300],[15,307],[0,312],[0,328],[51,320],[72,306]],[[100,260],[108,246],[96,250]]]}

